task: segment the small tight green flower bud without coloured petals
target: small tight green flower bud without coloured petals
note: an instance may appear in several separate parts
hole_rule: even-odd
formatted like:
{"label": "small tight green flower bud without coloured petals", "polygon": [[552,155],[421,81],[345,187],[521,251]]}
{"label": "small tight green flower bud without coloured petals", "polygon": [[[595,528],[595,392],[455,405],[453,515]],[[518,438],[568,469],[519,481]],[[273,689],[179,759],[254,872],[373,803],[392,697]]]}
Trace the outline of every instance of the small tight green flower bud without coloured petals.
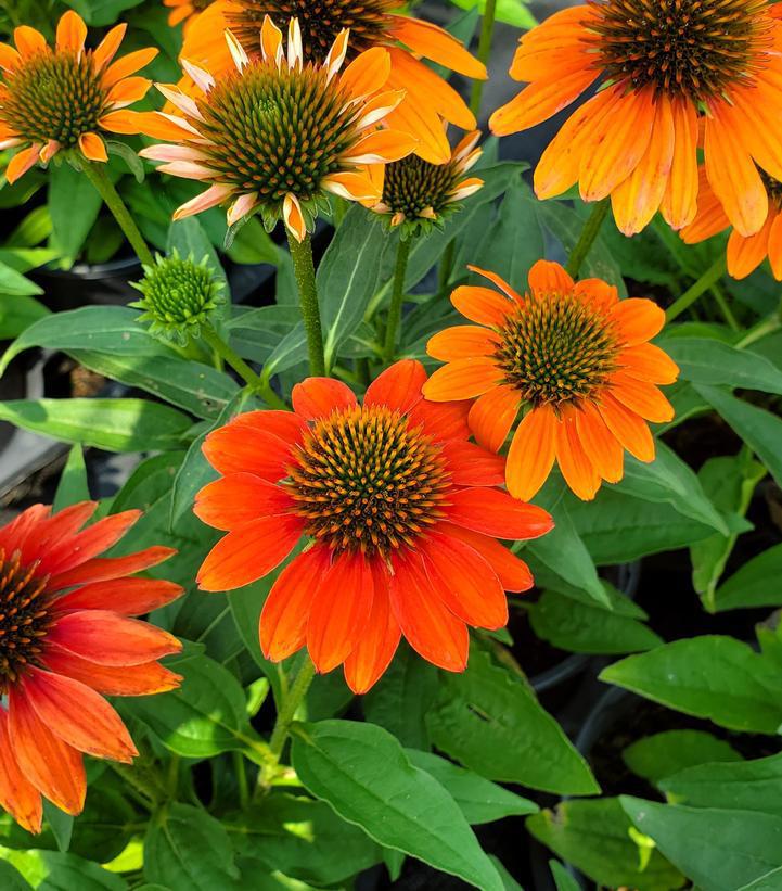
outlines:
{"label": "small tight green flower bud without coloured petals", "polygon": [[201,335],[215,310],[226,302],[220,293],[223,282],[215,277],[208,257],[200,263],[190,256],[182,259],[175,251],[168,257],[157,256],[154,266],[144,266],[144,278],[131,285],[142,297],[128,304],[143,309],[138,321],[149,322],[153,334],[184,346]]}

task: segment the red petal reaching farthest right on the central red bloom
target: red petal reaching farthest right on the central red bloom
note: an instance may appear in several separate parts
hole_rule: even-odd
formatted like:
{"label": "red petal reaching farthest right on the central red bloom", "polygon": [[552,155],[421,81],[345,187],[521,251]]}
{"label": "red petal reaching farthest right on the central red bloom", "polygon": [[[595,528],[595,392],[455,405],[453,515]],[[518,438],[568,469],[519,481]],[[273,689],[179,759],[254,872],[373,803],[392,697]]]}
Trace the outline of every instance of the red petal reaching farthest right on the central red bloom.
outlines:
{"label": "red petal reaching farthest right on the central red bloom", "polygon": [[517,501],[497,488],[465,488],[454,492],[450,501],[448,522],[497,538],[538,538],[554,527],[542,508]]}

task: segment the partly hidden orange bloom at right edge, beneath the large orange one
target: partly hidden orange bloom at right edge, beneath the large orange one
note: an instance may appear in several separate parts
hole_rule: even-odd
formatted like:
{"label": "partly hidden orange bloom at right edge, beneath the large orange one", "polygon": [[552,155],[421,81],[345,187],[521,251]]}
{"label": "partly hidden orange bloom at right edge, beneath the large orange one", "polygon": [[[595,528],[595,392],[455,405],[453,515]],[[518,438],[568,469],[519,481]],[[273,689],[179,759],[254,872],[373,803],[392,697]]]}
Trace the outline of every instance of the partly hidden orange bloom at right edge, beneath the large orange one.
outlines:
{"label": "partly hidden orange bloom at right edge, beneath the large orange one", "polygon": [[[768,193],[766,222],[749,237],[733,229],[728,239],[728,271],[734,279],[744,279],[768,257],[774,278],[782,281],[782,182],[767,174],[761,177]],[[697,244],[729,228],[728,215],[702,170],[697,215],[681,230],[681,238],[687,244]]]}

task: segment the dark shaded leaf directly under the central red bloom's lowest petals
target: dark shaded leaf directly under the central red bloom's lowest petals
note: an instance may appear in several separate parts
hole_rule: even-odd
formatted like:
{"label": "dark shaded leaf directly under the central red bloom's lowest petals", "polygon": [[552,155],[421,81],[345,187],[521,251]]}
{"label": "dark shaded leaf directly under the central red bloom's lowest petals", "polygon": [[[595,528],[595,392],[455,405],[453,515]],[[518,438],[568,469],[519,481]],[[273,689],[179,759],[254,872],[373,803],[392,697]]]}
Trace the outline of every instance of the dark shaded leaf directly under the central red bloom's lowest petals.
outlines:
{"label": "dark shaded leaf directly under the central red bloom's lowest petals", "polygon": [[437,670],[402,644],[383,677],[364,696],[364,717],[412,749],[428,749],[426,713],[437,699]]}

